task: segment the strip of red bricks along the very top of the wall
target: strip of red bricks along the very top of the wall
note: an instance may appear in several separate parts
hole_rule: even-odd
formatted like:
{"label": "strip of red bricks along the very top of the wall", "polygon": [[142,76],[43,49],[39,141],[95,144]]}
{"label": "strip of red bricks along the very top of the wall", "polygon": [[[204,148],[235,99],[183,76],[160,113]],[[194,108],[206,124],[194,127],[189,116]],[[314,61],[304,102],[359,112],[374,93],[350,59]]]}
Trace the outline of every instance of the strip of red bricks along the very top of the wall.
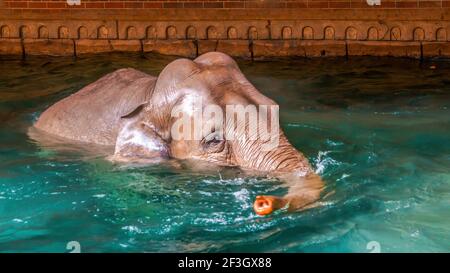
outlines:
{"label": "strip of red bricks along the very top of the wall", "polygon": [[70,6],[66,0],[0,0],[2,9],[430,9],[450,8],[450,0],[381,0],[381,6],[369,6],[366,0],[81,0]]}

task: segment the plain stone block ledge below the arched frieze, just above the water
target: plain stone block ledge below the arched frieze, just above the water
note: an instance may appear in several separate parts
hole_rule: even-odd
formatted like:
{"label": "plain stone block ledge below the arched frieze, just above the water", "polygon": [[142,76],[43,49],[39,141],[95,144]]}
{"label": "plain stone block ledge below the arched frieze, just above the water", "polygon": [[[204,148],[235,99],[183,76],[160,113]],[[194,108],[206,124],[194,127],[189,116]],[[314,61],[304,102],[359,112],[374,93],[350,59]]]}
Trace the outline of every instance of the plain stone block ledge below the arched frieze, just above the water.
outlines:
{"label": "plain stone block ledge below the arched frieze, just above the water", "polygon": [[72,56],[102,52],[155,52],[195,58],[220,51],[243,58],[392,56],[450,57],[448,42],[344,40],[107,40],[0,39],[0,55]]}

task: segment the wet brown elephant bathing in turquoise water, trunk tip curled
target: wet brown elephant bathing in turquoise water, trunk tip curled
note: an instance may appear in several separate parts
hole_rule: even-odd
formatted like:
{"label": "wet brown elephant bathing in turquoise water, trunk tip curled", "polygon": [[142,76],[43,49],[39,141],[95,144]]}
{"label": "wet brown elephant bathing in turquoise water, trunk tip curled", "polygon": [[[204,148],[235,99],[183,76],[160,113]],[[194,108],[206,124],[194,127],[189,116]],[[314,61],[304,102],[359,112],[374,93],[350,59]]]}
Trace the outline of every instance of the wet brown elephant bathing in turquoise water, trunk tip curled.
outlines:
{"label": "wet brown elephant bathing in turquoise water, trunk tip curled", "polygon": [[[216,105],[222,110],[230,105],[278,107],[245,78],[231,57],[210,52],[194,60],[177,59],[158,77],[132,68],[107,74],[50,106],[33,128],[68,142],[113,147],[108,158],[114,162],[193,159],[284,181],[286,195],[256,197],[253,208],[259,215],[286,207],[299,211],[317,204],[324,183],[307,158],[289,143],[276,114],[266,113],[257,121],[259,124],[268,119],[268,123],[276,124],[271,133],[277,143],[271,149],[262,148],[267,139],[243,137],[250,122],[229,126],[235,116],[212,122],[208,130],[200,130],[198,138],[175,137],[173,127],[179,119],[173,115],[174,109],[189,120],[195,114],[194,104]],[[179,128],[189,132],[190,126]],[[244,129],[233,130],[238,126]]]}

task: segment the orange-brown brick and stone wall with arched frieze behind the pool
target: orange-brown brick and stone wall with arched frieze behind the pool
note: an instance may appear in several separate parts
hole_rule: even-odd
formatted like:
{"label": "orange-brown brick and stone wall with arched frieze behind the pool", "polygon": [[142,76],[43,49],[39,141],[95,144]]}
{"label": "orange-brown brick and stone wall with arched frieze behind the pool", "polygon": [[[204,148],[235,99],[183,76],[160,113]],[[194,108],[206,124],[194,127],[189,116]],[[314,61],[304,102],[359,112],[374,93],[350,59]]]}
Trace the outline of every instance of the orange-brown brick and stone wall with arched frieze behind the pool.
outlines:
{"label": "orange-brown brick and stone wall with arched frieze behind the pool", "polygon": [[0,55],[450,57],[450,1],[368,2],[0,0]]}

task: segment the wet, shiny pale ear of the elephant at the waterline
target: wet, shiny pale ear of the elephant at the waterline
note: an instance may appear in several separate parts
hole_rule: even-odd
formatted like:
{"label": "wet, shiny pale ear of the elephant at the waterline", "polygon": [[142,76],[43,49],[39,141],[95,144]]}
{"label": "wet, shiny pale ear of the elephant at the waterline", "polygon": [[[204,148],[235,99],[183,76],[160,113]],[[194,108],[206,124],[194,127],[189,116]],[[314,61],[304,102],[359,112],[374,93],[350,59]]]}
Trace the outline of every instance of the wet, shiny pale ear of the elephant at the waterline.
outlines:
{"label": "wet, shiny pale ear of the elephant at the waterline", "polygon": [[116,139],[113,161],[154,161],[167,158],[166,142],[150,124],[124,120]]}

